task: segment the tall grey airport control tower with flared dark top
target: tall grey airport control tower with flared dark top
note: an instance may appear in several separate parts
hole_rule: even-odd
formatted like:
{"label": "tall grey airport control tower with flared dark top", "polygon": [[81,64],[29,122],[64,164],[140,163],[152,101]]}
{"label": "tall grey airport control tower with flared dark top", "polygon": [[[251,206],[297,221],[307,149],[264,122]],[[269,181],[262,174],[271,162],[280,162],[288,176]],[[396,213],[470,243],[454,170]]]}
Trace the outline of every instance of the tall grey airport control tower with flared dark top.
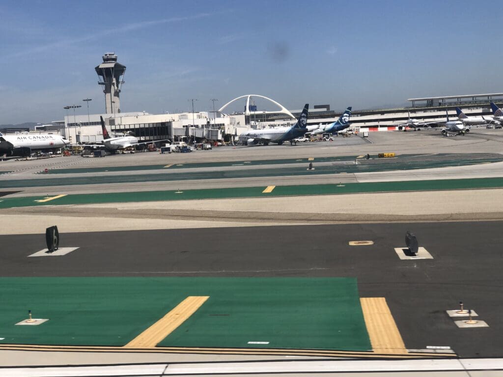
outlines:
{"label": "tall grey airport control tower with flared dark top", "polygon": [[122,78],[124,77],[126,66],[117,63],[115,52],[106,52],[103,55],[103,63],[95,69],[98,76],[101,76],[101,80],[98,83],[104,86],[106,113],[114,114],[115,116],[116,113],[121,112],[119,93],[124,83]]}

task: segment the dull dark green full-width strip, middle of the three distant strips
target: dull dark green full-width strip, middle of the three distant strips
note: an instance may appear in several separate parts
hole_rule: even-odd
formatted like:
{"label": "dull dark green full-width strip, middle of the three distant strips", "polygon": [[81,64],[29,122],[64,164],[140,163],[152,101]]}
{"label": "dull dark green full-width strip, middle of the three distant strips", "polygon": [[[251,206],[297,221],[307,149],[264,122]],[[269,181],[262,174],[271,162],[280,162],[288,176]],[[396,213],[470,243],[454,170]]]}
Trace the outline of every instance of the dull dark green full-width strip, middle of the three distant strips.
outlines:
{"label": "dull dark green full-width strip, middle of the three distant strips", "polygon": [[235,179],[251,177],[273,177],[273,176],[295,176],[295,175],[324,175],[337,173],[363,173],[372,171],[392,171],[411,170],[423,168],[439,168],[447,166],[461,166],[481,163],[499,162],[502,157],[468,158],[465,159],[444,159],[421,160],[410,158],[400,159],[378,159],[360,160],[359,164],[334,164],[327,166],[316,166],[314,170],[307,170],[306,166],[301,167],[278,167],[246,170],[221,170],[195,171],[195,172],[169,172],[155,174],[133,174],[133,175],[99,175],[99,176],[77,176],[68,178],[41,178],[41,179],[9,179],[0,180],[0,189],[13,189],[16,187],[41,187],[60,185],[81,185],[81,184],[109,184],[109,183],[134,183],[134,182],[156,182],[173,180],[193,180],[193,179]]}

